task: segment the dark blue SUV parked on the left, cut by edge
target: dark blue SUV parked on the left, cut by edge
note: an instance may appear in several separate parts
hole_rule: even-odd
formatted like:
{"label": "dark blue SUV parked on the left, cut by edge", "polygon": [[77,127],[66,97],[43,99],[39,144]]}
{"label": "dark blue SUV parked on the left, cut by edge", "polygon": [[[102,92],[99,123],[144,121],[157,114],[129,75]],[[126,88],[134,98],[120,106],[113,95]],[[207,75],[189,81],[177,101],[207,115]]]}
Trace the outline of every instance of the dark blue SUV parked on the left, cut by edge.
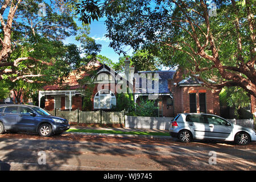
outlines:
{"label": "dark blue SUV parked on the left, cut by edge", "polygon": [[50,137],[69,128],[67,119],[55,117],[37,106],[0,105],[0,134],[5,131],[31,131],[42,137]]}

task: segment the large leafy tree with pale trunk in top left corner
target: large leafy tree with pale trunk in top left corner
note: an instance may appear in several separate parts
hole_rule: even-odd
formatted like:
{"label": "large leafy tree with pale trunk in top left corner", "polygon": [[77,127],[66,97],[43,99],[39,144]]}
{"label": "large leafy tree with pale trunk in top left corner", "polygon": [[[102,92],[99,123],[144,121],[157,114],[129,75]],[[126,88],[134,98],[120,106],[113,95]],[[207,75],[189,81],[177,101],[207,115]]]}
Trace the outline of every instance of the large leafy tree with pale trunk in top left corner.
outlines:
{"label": "large leafy tree with pale trunk in top left corner", "polygon": [[47,72],[44,66],[63,65],[61,40],[75,35],[77,30],[73,3],[1,1],[0,80],[10,77],[12,81],[34,82]]}

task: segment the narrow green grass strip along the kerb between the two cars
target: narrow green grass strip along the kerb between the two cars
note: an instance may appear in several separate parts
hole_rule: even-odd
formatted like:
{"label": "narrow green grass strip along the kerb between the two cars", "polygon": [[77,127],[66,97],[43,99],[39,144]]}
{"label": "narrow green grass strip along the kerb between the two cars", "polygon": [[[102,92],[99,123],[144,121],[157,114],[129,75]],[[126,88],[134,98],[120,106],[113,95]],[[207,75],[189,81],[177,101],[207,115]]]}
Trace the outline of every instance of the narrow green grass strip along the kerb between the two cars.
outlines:
{"label": "narrow green grass strip along the kerb between the two cars", "polygon": [[129,134],[129,135],[159,135],[170,136],[167,132],[147,132],[147,131],[115,131],[115,130],[88,130],[88,129],[69,129],[68,132],[80,133],[106,133],[106,134]]}

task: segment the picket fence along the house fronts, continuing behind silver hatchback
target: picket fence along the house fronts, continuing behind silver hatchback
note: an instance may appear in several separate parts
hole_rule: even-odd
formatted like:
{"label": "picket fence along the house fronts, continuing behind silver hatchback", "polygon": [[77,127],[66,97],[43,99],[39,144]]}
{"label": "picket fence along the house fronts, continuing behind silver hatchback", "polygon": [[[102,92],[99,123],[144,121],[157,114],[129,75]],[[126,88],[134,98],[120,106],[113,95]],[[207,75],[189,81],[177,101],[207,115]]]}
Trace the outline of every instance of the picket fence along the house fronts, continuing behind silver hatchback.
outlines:
{"label": "picket fence along the house fronts, continuing behind silver hatchback", "polygon": [[[79,111],[79,110],[53,110],[48,111],[57,117],[68,119],[69,122],[76,123],[103,123],[103,124],[123,124],[132,129],[158,129],[168,130],[173,117],[140,117],[125,115],[120,112],[106,111]],[[236,125],[254,128],[253,119],[226,119]]]}

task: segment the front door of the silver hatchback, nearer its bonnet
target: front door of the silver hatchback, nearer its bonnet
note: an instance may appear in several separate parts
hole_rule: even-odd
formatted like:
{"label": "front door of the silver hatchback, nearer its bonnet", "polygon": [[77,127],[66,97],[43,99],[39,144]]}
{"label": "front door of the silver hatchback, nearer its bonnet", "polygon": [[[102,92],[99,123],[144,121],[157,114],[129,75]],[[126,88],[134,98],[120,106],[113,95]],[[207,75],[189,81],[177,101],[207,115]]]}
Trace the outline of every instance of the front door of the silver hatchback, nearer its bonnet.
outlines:
{"label": "front door of the silver hatchback, nearer its bonnet", "polygon": [[209,123],[209,137],[216,139],[226,139],[232,134],[232,126],[228,122],[216,115],[205,115]]}

